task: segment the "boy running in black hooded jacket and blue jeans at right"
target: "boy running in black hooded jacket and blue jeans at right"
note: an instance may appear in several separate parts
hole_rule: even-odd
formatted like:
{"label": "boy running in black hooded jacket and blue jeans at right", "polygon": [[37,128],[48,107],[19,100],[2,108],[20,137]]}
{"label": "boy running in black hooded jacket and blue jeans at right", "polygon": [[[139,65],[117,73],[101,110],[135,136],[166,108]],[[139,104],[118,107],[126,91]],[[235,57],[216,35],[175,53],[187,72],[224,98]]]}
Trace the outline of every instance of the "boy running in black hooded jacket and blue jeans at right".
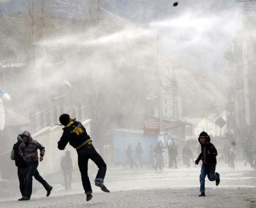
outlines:
{"label": "boy running in black hooded jacket and blue jeans at right", "polygon": [[215,172],[217,160],[216,156],[218,152],[213,144],[211,144],[211,138],[209,135],[202,131],[198,137],[198,142],[201,145],[201,153],[195,161],[198,165],[202,160],[201,174],[200,174],[200,195],[199,197],[205,197],[205,177],[207,175],[209,181],[216,181],[216,186],[220,184],[220,174]]}

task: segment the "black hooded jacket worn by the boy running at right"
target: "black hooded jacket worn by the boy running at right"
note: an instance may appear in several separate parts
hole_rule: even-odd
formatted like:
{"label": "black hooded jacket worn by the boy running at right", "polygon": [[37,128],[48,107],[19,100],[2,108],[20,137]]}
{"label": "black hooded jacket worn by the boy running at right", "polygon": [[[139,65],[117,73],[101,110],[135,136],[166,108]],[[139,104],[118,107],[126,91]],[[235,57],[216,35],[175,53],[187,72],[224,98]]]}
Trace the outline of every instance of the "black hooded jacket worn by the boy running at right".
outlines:
{"label": "black hooded jacket worn by the boy running at right", "polygon": [[[207,143],[202,144],[200,142],[200,137],[206,137]],[[203,163],[205,163],[205,165],[216,165],[217,164],[216,156],[218,155],[218,152],[217,152],[216,148],[214,147],[214,145],[211,144],[211,138],[205,131],[202,131],[202,133],[200,133],[198,142],[201,145],[201,153],[199,154],[196,161],[199,162],[200,160],[202,160]]]}

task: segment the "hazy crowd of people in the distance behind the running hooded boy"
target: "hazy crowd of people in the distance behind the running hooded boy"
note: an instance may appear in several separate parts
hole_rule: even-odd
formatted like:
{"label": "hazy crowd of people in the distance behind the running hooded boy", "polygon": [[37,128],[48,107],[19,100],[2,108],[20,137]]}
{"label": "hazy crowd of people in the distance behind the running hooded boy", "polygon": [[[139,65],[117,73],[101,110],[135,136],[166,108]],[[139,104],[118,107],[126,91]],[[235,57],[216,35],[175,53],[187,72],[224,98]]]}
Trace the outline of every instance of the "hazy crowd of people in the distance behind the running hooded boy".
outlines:
{"label": "hazy crowd of people in the distance behind the running hooded boy", "polygon": [[[253,142],[254,137],[235,138],[231,134],[225,136],[211,136],[211,141],[214,142],[218,151],[218,160],[227,163],[227,167],[235,169],[235,161],[237,155],[239,159],[244,160],[245,166],[252,168],[256,167],[256,144]],[[125,151],[126,161],[123,164],[130,168],[133,167],[148,167],[151,170],[163,170],[163,168],[178,168],[178,167],[196,167],[195,158],[200,154],[201,145],[195,138],[188,139],[184,142],[175,139],[164,144],[161,140],[156,146],[150,145],[148,150],[141,147],[138,142],[136,147],[132,148],[129,145]],[[143,160],[148,157],[149,161]]]}

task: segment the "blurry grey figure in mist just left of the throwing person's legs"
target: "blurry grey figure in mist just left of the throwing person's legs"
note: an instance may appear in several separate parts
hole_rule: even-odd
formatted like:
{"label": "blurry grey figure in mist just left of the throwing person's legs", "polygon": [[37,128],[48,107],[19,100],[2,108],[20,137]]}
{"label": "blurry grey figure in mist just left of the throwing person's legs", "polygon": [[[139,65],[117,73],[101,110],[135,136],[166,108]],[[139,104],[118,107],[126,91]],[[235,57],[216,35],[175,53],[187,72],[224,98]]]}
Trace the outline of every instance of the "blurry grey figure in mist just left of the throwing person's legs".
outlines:
{"label": "blurry grey figure in mist just left of the throwing person's legs", "polygon": [[61,170],[63,171],[65,189],[67,191],[71,189],[73,164],[70,151],[67,150],[65,154],[66,155],[61,158]]}

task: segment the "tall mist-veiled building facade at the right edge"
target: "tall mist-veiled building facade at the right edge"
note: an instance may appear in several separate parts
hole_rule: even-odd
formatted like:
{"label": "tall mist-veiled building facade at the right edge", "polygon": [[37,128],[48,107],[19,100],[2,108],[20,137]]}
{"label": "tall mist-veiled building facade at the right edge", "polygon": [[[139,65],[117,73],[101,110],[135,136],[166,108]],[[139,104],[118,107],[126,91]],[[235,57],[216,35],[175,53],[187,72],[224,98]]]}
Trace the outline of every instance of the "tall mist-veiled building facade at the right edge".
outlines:
{"label": "tall mist-veiled building facade at the right edge", "polygon": [[256,37],[255,17],[244,19],[244,30],[232,43],[226,58],[230,63],[227,104],[228,133],[255,137],[256,125]]}

